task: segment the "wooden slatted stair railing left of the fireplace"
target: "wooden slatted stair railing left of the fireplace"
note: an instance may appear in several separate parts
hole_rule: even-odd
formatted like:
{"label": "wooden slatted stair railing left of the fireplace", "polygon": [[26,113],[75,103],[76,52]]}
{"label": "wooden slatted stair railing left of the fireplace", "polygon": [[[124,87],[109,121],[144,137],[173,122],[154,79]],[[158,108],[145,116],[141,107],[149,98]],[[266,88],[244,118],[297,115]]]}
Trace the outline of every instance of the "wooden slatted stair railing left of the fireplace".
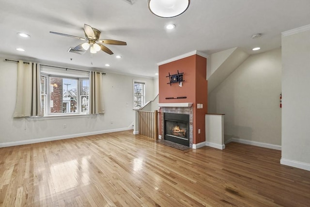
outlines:
{"label": "wooden slatted stair railing left of the fireplace", "polygon": [[139,134],[158,139],[158,111],[139,112]]}

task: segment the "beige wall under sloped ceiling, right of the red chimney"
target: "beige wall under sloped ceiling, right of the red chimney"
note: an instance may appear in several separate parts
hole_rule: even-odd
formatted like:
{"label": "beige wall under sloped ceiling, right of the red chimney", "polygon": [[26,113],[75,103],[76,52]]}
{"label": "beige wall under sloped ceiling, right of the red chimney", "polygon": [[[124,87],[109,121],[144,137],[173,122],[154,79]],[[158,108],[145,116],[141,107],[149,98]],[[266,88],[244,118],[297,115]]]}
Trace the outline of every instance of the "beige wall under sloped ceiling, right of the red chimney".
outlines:
{"label": "beige wall under sloped ceiling, right of the red chimney", "polygon": [[225,142],[281,145],[281,50],[251,55],[208,95],[208,113],[224,113]]}

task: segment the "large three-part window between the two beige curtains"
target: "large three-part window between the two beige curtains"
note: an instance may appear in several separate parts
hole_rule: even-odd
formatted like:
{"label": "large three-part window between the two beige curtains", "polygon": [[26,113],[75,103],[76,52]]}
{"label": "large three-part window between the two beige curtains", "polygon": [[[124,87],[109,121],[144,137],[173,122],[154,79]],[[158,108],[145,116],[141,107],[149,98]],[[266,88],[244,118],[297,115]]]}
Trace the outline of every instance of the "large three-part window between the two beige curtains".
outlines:
{"label": "large three-part window between the two beige curtains", "polygon": [[41,100],[44,115],[86,113],[89,78],[47,72],[50,74],[47,74],[46,70],[41,70]]}

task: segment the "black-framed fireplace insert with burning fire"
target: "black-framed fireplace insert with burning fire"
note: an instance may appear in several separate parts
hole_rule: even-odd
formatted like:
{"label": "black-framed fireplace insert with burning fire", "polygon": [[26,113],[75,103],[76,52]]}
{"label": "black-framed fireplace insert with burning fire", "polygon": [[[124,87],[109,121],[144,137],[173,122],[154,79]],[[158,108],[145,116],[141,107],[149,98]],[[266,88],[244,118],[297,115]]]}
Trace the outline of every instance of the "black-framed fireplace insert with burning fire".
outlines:
{"label": "black-framed fireplace insert with burning fire", "polygon": [[164,139],[189,146],[189,114],[164,113]]}

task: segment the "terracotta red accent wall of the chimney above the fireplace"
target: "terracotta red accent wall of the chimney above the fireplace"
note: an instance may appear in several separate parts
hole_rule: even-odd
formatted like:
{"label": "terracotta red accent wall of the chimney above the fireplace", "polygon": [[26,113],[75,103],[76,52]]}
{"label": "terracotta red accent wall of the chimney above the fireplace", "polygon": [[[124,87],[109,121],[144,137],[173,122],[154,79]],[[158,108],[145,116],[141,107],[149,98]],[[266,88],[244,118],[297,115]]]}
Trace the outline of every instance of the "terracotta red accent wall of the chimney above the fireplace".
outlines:
{"label": "terracotta red accent wall of the chimney above the fireplace", "polygon": [[[193,143],[205,141],[205,114],[207,113],[207,59],[192,55],[171,63],[159,65],[159,103],[193,103]],[[170,86],[169,75],[184,73],[183,86],[172,83]],[[185,99],[166,99],[166,97],[186,96]],[[202,104],[202,109],[197,109],[197,104]],[[159,125],[160,126],[160,125]],[[201,133],[198,134],[198,129]],[[160,131],[161,134],[161,131]]]}

